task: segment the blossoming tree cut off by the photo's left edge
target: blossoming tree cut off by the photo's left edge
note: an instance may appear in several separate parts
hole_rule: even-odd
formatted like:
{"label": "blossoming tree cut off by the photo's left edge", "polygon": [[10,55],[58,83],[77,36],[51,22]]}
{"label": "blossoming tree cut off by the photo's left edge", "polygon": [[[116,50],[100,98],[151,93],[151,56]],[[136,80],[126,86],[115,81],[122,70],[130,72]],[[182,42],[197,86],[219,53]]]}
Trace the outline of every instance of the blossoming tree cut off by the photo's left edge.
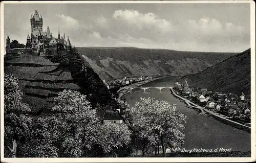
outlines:
{"label": "blossoming tree cut off by the photo's left edge", "polygon": [[32,119],[27,116],[31,109],[22,103],[23,92],[13,75],[4,74],[4,95],[4,140],[7,148],[11,142],[22,144],[30,137]]}

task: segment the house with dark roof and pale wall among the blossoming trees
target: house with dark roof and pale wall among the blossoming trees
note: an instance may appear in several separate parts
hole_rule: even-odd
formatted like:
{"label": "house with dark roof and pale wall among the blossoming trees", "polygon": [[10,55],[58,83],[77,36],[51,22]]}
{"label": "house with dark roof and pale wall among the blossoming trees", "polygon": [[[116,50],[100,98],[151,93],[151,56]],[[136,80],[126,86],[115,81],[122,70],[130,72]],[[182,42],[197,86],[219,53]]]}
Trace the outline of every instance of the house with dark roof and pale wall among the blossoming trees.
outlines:
{"label": "house with dark roof and pale wall among the blossoming trees", "polygon": [[119,110],[106,110],[103,114],[103,124],[106,123],[123,123],[123,117]]}

